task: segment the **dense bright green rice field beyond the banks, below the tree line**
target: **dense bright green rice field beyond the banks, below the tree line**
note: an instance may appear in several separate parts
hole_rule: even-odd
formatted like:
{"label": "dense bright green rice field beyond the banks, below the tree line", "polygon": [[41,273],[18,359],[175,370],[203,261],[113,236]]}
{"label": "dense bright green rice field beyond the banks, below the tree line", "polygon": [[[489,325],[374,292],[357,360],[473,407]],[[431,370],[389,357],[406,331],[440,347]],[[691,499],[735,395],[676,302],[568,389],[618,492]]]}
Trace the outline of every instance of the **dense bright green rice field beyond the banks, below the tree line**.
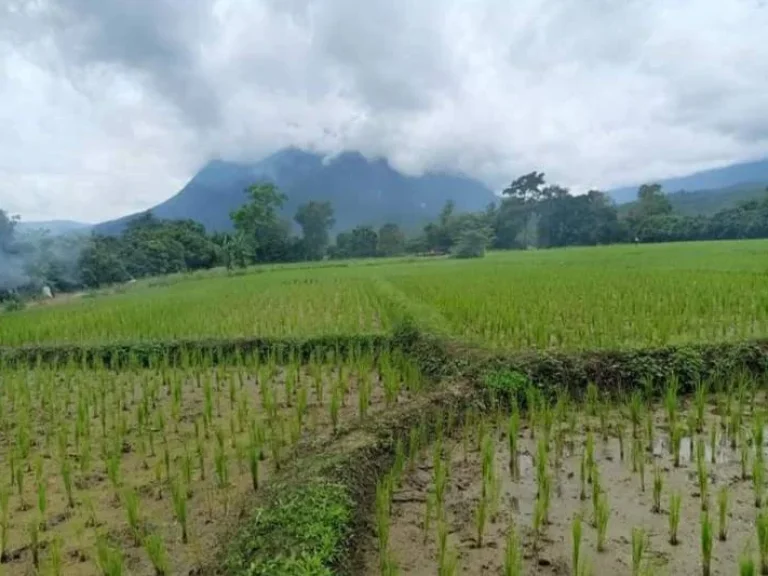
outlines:
{"label": "dense bright green rice field beyond the banks, below the tree line", "polygon": [[0,316],[0,343],[384,333],[403,316],[500,349],[768,336],[768,241],[322,262],[147,280]]}

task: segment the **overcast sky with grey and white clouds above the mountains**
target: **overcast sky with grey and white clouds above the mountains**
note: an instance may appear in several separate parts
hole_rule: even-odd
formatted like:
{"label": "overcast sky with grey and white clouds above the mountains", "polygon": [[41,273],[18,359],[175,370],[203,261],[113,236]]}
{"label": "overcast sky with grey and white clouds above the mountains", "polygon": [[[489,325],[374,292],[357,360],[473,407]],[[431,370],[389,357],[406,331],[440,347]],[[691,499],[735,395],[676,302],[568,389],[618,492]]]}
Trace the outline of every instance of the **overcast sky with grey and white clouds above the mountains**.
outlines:
{"label": "overcast sky with grey and white clouds above the mountains", "polygon": [[0,208],[95,222],[286,145],[495,188],[755,159],[767,33],[765,0],[0,0]]}

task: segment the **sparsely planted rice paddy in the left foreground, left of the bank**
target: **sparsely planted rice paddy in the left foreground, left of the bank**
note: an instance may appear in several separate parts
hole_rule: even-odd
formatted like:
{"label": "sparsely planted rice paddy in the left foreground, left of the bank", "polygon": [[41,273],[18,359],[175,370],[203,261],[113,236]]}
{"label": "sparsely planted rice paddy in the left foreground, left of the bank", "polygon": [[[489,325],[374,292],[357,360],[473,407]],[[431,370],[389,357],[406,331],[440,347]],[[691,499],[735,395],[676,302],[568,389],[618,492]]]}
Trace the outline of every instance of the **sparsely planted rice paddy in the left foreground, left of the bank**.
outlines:
{"label": "sparsely planted rice paddy in the left foreground, left of the bank", "polygon": [[301,442],[323,444],[423,384],[397,354],[256,358],[4,373],[4,573],[194,572]]}

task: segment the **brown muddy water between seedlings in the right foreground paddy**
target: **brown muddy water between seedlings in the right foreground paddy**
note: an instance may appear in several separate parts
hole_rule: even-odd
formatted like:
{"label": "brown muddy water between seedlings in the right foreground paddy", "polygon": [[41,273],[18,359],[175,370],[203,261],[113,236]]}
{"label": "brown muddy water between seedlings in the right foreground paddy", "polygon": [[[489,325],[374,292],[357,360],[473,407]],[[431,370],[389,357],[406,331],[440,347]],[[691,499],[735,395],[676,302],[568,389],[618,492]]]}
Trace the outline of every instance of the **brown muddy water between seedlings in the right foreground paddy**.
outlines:
{"label": "brown muddy water between seedlings in the right foreground paddy", "polygon": [[[614,421],[619,416],[614,416]],[[730,442],[718,436],[715,449],[715,464],[711,464],[709,447],[709,425],[716,422],[716,416],[709,415],[707,432],[700,438],[706,443],[706,460],[709,470],[710,517],[715,530],[712,560],[712,574],[738,573],[738,559],[745,546],[756,550],[754,520],[756,508],[751,480],[741,479],[740,453],[730,449]],[[579,433],[573,434],[575,449],[566,452],[560,466],[555,470],[550,463],[554,477],[550,505],[550,524],[546,527],[543,542],[538,552],[533,550],[532,523],[536,502],[536,479],[532,455],[536,451],[536,440],[530,439],[530,432],[523,430],[519,438],[521,479],[512,481],[509,471],[507,439],[496,431],[495,464],[500,477],[501,505],[498,516],[488,522],[483,546],[477,545],[475,511],[481,494],[481,455],[477,441],[469,443],[465,453],[461,441],[446,443],[449,450],[450,479],[446,495],[446,517],[449,523],[448,546],[459,557],[457,574],[490,575],[501,574],[504,564],[504,547],[510,525],[517,527],[524,545],[524,574],[566,575],[571,574],[571,521],[575,514],[584,518],[581,555],[589,560],[593,574],[631,574],[631,533],[634,527],[643,528],[648,534],[648,548],[645,555],[650,563],[650,574],[689,575],[701,574],[700,515],[701,498],[691,442],[685,438],[681,445],[681,465],[675,468],[670,453],[669,437],[659,412],[655,418],[656,439],[654,449],[646,451],[645,492],[641,490],[638,473],[632,472],[629,441],[625,441],[625,459],[619,457],[619,442],[610,438],[608,442],[595,434],[595,457],[600,470],[603,490],[607,494],[611,509],[607,530],[606,550],[596,551],[596,530],[592,527],[591,487],[587,487],[587,500],[581,501],[579,471],[583,451],[583,422]],[[595,422],[594,424],[597,424]],[[749,426],[749,423],[747,423]],[[766,434],[768,437],[768,434]],[[696,438],[698,440],[698,437]],[[765,449],[765,448],[764,448]],[[750,453],[751,456],[752,453]],[[653,503],[653,469],[658,466],[663,472],[662,512],[651,511]],[[751,471],[751,462],[749,465]],[[401,574],[437,574],[437,546],[435,521],[425,539],[424,515],[427,494],[432,491],[433,469],[431,462],[423,462],[416,470],[406,475],[403,484],[394,495],[390,530],[390,548]],[[728,538],[717,540],[718,514],[716,495],[720,488],[729,488]],[[681,520],[678,530],[680,543],[669,544],[669,497],[672,491],[682,496]],[[757,554],[754,554],[757,561]],[[371,541],[365,574],[379,574],[379,554],[375,541]]]}

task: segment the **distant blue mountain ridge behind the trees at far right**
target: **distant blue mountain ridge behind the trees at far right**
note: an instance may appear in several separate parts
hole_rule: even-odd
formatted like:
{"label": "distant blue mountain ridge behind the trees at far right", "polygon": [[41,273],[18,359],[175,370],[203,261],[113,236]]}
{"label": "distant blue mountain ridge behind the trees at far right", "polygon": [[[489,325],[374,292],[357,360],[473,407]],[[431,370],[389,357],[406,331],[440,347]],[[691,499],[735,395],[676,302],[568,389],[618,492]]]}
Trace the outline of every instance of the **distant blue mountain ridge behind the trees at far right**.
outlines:
{"label": "distant blue mountain ridge behind the trees at far right", "polygon": [[[714,168],[696,172],[689,176],[668,178],[666,180],[649,180],[661,184],[667,194],[680,191],[695,191],[699,194],[706,190],[719,190],[718,194],[729,194],[737,189],[768,185],[768,159],[756,162],[732,164],[723,168]],[[618,203],[631,202],[637,197],[638,186],[619,188],[609,192]],[[730,192],[729,192],[730,191]],[[706,196],[706,194],[704,194]]]}

